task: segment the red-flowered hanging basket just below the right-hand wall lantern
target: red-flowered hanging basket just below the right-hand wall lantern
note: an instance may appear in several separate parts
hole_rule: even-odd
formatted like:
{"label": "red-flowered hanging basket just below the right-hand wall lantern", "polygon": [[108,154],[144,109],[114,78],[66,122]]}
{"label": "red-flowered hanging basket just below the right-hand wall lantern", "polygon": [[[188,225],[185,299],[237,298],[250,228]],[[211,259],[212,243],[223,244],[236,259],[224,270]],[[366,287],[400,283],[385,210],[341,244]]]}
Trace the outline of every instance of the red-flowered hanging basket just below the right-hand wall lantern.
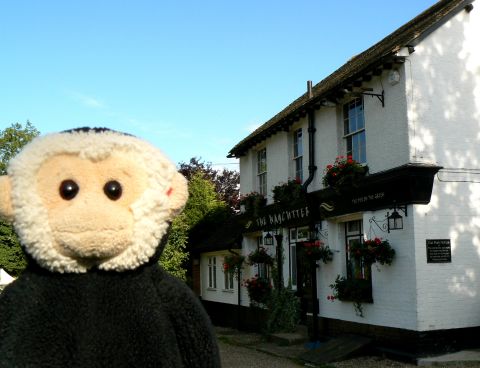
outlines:
{"label": "red-flowered hanging basket just below the right-hand wall lantern", "polygon": [[381,238],[355,242],[349,246],[349,252],[356,259],[363,259],[366,264],[380,263],[391,265],[395,257],[395,249],[388,240]]}

